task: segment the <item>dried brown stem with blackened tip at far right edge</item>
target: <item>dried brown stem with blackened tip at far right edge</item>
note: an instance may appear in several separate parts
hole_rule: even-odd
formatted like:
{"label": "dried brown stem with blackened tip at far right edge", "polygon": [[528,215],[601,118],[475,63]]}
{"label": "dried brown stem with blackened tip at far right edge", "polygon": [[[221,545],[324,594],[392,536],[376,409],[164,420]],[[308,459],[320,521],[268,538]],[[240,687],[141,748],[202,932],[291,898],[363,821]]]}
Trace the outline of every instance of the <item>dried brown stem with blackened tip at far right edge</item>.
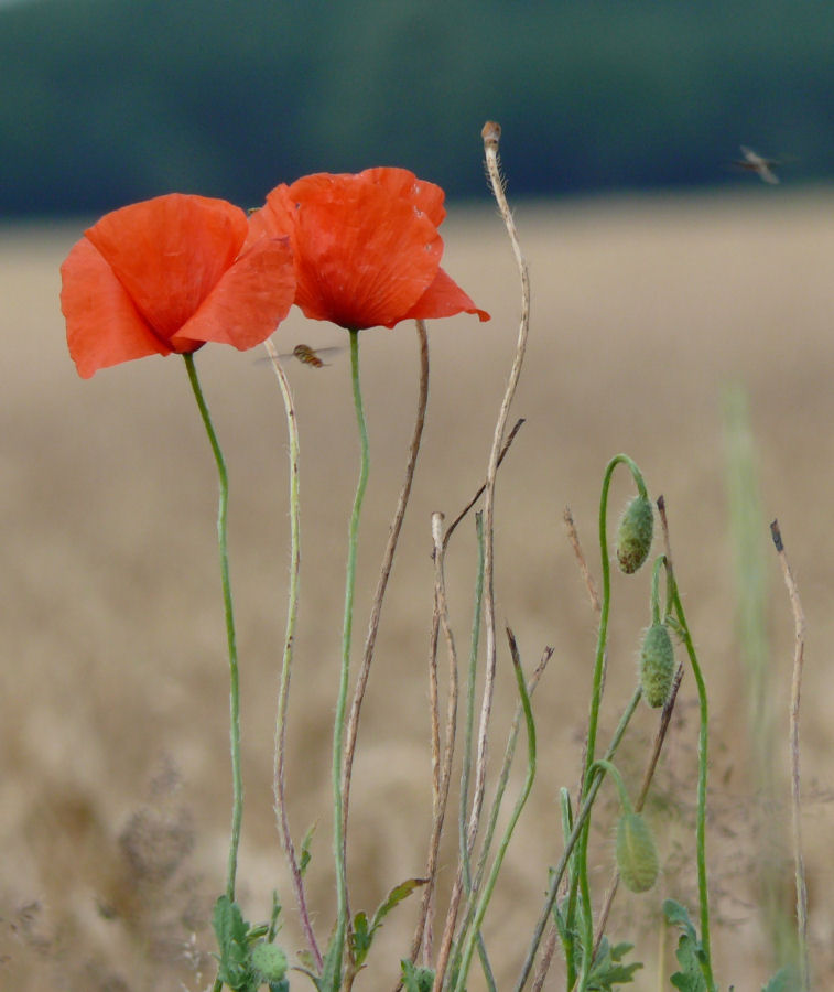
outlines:
{"label": "dried brown stem with blackened tip at far right edge", "polygon": [[797,880],[797,932],[799,938],[799,967],[802,989],[808,992],[811,988],[810,968],[808,960],[808,888],[805,885],[805,864],[802,856],[802,819],[800,794],[800,744],[799,744],[799,704],[802,689],[802,668],[805,660],[805,614],[799,597],[799,590],[793,578],[793,572],[784,553],[782,535],[779,522],[773,520],[770,525],[773,543],[782,565],[784,584],[788,587],[788,596],[791,601],[794,626],[793,648],[793,678],[791,680],[791,719],[790,719],[790,748],[791,748],[791,829],[793,833],[793,860]]}

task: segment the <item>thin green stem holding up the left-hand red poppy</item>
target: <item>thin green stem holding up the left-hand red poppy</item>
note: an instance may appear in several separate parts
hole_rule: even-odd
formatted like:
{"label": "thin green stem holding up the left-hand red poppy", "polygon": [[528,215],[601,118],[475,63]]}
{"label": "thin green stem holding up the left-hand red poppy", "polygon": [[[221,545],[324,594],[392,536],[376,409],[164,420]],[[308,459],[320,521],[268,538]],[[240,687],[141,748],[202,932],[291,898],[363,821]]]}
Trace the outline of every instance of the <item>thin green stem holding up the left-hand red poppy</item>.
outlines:
{"label": "thin green stem holding up the left-hand red poppy", "polygon": [[229,841],[229,862],[226,881],[226,895],[230,902],[235,902],[235,880],[238,866],[238,847],[240,843],[240,821],[243,816],[243,781],[240,772],[240,691],[238,677],[238,651],[235,637],[235,614],[231,603],[231,583],[229,582],[229,553],[227,541],[227,516],[229,503],[229,478],[226,472],[226,462],[220,451],[220,444],[215,433],[212,416],[208,412],[203,388],[197,378],[194,365],[194,355],[183,355],[185,369],[188,373],[188,381],[194,390],[199,416],[208,435],[208,443],[217,464],[217,477],[220,485],[220,496],[217,508],[217,546],[220,551],[220,581],[223,583],[223,604],[226,615],[226,637],[229,650],[229,738],[231,744],[231,839]]}

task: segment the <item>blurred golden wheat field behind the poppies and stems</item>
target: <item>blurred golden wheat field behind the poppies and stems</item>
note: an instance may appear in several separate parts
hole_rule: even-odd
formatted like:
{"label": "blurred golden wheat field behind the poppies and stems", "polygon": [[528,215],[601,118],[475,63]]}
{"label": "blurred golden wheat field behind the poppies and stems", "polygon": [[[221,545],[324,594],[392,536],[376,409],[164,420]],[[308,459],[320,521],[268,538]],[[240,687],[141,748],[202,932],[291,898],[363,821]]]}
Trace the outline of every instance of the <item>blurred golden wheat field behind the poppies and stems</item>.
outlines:
{"label": "blurred golden wheat field behind the poppies and stems", "polygon": [[[793,908],[793,622],[767,528],[779,518],[808,619],[803,827],[815,988],[828,988],[834,196],[750,186],[733,196],[542,202],[520,207],[517,222],[530,262],[532,322],[511,411],[526,424],[497,487],[497,617],[499,629],[506,623],[516,632],[527,670],[546,645],[555,650],[533,700],[537,781],[485,926],[499,988],[512,985],[548,866],[561,852],[559,788],[573,789],[580,774],[596,629],[563,508],[572,507],[598,580],[599,486],[620,451],[638,462],[652,496],[665,497],[675,571],[711,693],[713,941],[719,983],[738,990],[760,989],[775,970],[759,891],[763,864],[781,872],[778,902],[789,920]],[[175,356],[121,365],[89,381],[76,376],[58,308],[58,266],[83,226],[0,230],[0,986],[198,992],[214,978],[207,920],[225,885],[230,801],[217,485]],[[359,733],[349,824],[354,910],[373,909],[396,883],[423,870],[431,823],[430,515],[454,516],[483,481],[518,328],[518,279],[495,213],[452,204],[444,240],[444,267],[492,321],[456,317],[430,327],[424,443]],[[323,347],[338,345],[342,334],[292,315],[277,343],[281,351],[299,342]],[[361,363],[371,475],[357,656],[412,429],[413,330],[364,333]],[[246,787],[239,899],[250,919],[266,918],[278,887],[292,957],[302,940],[271,786],[289,563],[283,408],[269,367],[252,353],[206,348],[197,365],[231,478]],[[296,840],[317,822],[307,882],[324,940],[334,912],[331,726],[358,444],[346,353],[319,370],[288,367],[302,445],[302,606],[288,788]],[[747,704],[737,636],[722,412],[732,385],[749,399],[765,521],[772,792],[762,791],[754,770],[751,741],[763,714]],[[613,513],[629,494],[627,473],[616,475]],[[462,657],[475,567],[468,522],[447,562]],[[648,574],[616,574],[613,596],[603,740],[635,684],[640,632],[650,618]],[[502,639],[498,679],[492,772],[516,703]],[[614,938],[637,944],[646,963],[637,989],[669,988],[662,975],[671,973],[676,938],[661,939],[662,899],[696,910],[695,699],[687,672],[650,807],[660,883],[643,896],[621,892],[609,925]],[[656,720],[641,711],[625,747],[631,788]],[[519,766],[513,797],[522,775]],[[613,824],[614,790],[604,799]],[[453,833],[454,820],[452,813]],[[593,842],[594,883],[602,888],[611,866],[608,828],[596,830]],[[444,885],[453,865],[450,843]],[[357,988],[394,988],[416,904],[412,898],[389,917]],[[561,974],[556,962],[550,988],[563,988]],[[479,981],[474,977],[470,988]],[[292,978],[293,988],[305,982]]]}

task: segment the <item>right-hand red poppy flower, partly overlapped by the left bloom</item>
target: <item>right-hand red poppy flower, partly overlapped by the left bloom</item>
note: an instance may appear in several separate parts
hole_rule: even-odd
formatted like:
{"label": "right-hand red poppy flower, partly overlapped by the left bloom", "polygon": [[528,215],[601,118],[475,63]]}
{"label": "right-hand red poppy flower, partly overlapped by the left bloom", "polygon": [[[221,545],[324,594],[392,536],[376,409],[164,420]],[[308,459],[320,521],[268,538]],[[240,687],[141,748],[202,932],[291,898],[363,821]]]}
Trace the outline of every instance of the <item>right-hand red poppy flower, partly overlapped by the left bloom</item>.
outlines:
{"label": "right-hand red poppy flower, partly overlapped by the left bloom", "polygon": [[464,312],[488,321],[440,267],[443,200],[405,169],[318,173],[277,186],[249,224],[252,237],[289,236],[308,317],[353,331]]}

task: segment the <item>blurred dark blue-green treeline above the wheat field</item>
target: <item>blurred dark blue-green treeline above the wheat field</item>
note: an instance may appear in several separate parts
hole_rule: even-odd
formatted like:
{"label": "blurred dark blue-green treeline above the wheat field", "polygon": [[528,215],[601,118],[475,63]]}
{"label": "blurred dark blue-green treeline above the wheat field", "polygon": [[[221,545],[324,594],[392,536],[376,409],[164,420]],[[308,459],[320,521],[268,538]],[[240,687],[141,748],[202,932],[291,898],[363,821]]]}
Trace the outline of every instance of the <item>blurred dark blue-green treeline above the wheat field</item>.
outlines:
{"label": "blurred dark blue-green treeline above the wheat field", "polygon": [[0,212],[171,190],[259,204],[405,165],[485,194],[714,184],[738,145],[834,173],[831,0],[30,0],[0,9]]}

